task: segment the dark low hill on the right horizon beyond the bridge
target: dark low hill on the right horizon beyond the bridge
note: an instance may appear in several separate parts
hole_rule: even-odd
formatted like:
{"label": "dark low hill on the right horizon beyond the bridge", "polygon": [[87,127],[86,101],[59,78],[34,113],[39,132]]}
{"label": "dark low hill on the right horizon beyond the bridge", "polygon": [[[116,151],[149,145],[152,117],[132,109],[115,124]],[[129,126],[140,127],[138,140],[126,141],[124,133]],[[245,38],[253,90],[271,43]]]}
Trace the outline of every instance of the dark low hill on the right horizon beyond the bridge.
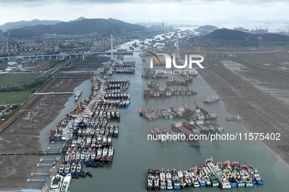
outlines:
{"label": "dark low hill on the right horizon beyond the bridge", "polygon": [[[250,34],[242,31],[230,30],[230,29],[218,29],[204,36],[204,38],[219,38],[227,40],[244,40],[249,38],[251,41],[256,41],[260,34]],[[289,41],[289,36],[279,34],[263,34],[263,41]]]}

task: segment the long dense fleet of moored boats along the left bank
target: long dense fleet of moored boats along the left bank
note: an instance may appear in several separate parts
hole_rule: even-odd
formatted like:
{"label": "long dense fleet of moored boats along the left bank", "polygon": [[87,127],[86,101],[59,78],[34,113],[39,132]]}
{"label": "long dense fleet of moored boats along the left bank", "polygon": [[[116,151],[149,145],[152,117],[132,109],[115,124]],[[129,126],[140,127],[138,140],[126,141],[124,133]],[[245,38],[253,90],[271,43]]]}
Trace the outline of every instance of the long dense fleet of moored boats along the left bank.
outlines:
{"label": "long dense fleet of moored boats along the left bank", "polygon": [[72,144],[58,174],[51,180],[49,192],[67,192],[71,177],[91,176],[89,172],[82,171],[84,164],[102,167],[103,163],[111,163],[113,159],[112,137],[118,136],[119,125],[109,125],[109,121],[120,118],[117,107],[130,104],[128,100],[121,100],[130,98],[129,93],[124,92],[130,81],[128,78],[114,79],[106,75],[96,76],[91,81],[89,97],[79,101],[55,129],[50,130],[50,140],[72,140]]}

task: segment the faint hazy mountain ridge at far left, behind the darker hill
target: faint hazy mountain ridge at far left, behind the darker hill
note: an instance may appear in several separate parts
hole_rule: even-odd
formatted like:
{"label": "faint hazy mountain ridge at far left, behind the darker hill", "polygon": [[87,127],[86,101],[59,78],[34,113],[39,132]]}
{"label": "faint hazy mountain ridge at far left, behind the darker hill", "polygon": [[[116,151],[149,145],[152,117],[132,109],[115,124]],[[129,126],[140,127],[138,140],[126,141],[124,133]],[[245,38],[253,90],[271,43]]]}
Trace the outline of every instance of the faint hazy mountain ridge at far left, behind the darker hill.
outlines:
{"label": "faint hazy mountain ridge at far left, behind the darker hill", "polygon": [[17,22],[8,22],[3,25],[0,25],[0,28],[7,31],[7,29],[16,29],[21,28],[24,26],[34,26],[34,25],[54,25],[56,23],[62,22],[61,20],[39,20],[39,19],[33,19],[30,21],[17,21]]}

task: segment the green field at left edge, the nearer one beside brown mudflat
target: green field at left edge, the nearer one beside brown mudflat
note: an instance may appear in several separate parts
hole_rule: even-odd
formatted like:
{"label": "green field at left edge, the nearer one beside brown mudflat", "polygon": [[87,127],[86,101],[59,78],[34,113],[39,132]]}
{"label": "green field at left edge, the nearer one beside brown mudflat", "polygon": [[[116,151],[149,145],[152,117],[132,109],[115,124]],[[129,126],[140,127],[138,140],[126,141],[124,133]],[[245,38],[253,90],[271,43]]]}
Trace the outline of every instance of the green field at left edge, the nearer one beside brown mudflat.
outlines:
{"label": "green field at left edge, the nearer one beside brown mudflat", "polygon": [[31,95],[31,90],[21,92],[2,92],[0,93],[0,105],[22,103]]}

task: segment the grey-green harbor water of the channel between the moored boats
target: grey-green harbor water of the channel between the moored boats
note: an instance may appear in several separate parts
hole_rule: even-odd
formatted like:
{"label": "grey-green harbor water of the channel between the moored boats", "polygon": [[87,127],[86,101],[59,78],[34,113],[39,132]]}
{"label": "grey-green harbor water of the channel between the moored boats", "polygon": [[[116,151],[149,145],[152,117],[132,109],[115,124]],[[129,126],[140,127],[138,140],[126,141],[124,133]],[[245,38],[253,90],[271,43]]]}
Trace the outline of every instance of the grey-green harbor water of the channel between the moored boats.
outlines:
{"label": "grey-green harbor water of the channel between the moored boats", "polygon": [[[148,39],[147,39],[148,40]],[[138,43],[138,40],[137,44]],[[128,42],[122,45],[121,48],[129,50],[133,42]],[[137,48],[139,49],[139,48]],[[171,98],[158,98],[158,99],[143,99],[143,87],[146,87],[148,80],[142,79],[143,74],[142,60],[138,55],[139,53],[133,53],[132,56],[126,56],[124,60],[130,61],[135,60],[135,74],[116,74],[112,77],[130,79],[130,87],[128,92],[131,95],[131,104],[128,107],[119,108],[121,115],[120,120],[111,120],[110,125],[119,124],[119,136],[112,138],[112,146],[115,150],[113,155],[113,161],[111,164],[104,164],[102,167],[86,167],[84,166],[83,171],[88,171],[92,174],[92,177],[80,177],[78,179],[72,179],[69,187],[70,192],[79,191],[102,191],[102,192],[141,192],[147,191],[147,170],[149,168],[161,169],[189,169],[190,167],[200,167],[201,164],[205,163],[207,158],[213,157],[217,162],[224,162],[229,160],[230,162],[237,160],[241,165],[252,164],[254,168],[257,167],[262,179],[264,180],[263,185],[255,184],[253,187],[236,187],[229,191],[234,192],[284,192],[287,191],[287,172],[289,168],[277,154],[274,154],[267,146],[263,145],[259,141],[254,141],[249,145],[244,143],[243,145],[227,144],[222,141],[207,142],[201,141],[198,144],[189,143],[189,141],[177,141],[174,144],[165,143],[162,144],[160,141],[150,141],[144,139],[147,134],[150,134],[150,129],[156,127],[170,127],[170,124],[174,122],[169,119],[156,119],[147,120],[139,115],[138,109],[144,107],[162,108],[174,107],[178,109],[181,101],[187,104],[187,107],[194,110],[195,101],[201,108],[210,112],[213,111],[218,115],[216,122],[221,124],[224,128],[224,133],[245,133],[245,129],[242,122],[226,122],[225,117],[229,114],[225,111],[222,100],[217,103],[208,105],[204,104],[203,99],[208,96],[213,96],[216,93],[214,90],[203,80],[199,75],[193,79],[193,83],[190,84],[190,90],[198,92],[195,96],[172,96]],[[120,61],[121,62],[121,61]],[[154,69],[156,70],[156,69]],[[98,69],[95,74],[102,71]],[[182,76],[175,75],[169,79],[181,79]],[[166,88],[167,79],[157,79],[160,84],[159,88]],[[79,100],[86,98],[90,94],[90,80],[84,81],[79,87],[75,88],[82,89],[82,95]],[[178,86],[178,90],[181,90],[182,86]],[[171,89],[176,89],[176,86],[170,86]],[[184,90],[186,87],[183,86]],[[40,142],[42,149],[47,147],[61,147],[63,143],[51,144],[47,138],[49,130],[54,129],[55,125],[69,110],[75,106],[74,96],[71,96],[65,108],[62,110],[60,115],[44,130],[41,132]],[[180,119],[186,121],[185,119]],[[145,125],[146,127],[143,127]],[[51,155],[52,156],[52,155]],[[55,156],[55,155],[54,155]],[[42,169],[42,170],[41,170]],[[40,172],[45,172],[46,168],[40,168]],[[58,168],[57,168],[58,169]],[[32,184],[34,189],[36,185]],[[39,188],[39,187],[38,187]],[[183,191],[223,191],[221,187],[185,187],[181,189]]]}

